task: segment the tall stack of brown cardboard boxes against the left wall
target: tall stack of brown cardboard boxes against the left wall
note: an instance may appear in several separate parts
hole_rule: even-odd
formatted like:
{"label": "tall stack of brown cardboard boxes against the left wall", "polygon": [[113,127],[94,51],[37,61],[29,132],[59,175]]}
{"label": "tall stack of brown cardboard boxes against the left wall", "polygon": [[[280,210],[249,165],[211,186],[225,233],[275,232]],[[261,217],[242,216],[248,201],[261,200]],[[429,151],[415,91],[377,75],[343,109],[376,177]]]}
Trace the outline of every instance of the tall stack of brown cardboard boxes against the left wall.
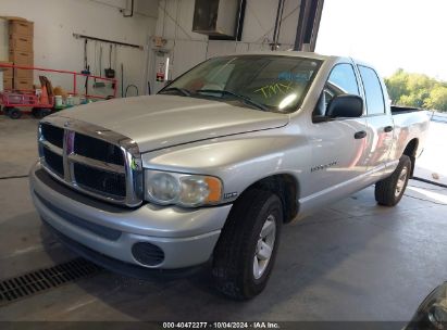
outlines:
{"label": "tall stack of brown cardboard boxes against the left wall", "polygon": [[[20,66],[34,66],[34,23],[24,20],[9,21],[10,62]],[[14,89],[33,89],[33,71],[14,68]]]}

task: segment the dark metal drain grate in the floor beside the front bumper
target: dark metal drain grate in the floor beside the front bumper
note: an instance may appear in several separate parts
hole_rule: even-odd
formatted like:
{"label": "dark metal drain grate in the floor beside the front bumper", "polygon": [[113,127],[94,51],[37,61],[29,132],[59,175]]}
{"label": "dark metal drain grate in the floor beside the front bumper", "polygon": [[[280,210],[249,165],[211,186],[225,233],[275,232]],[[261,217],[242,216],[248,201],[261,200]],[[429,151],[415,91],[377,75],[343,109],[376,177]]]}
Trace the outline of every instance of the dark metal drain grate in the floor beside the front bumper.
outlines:
{"label": "dark metal drain grate in the floor beside the front bumper", "polygon": [[94,276],[102,270],[100,266],[84,258],[76,258],[53,267],[0,280],[0,305]]}

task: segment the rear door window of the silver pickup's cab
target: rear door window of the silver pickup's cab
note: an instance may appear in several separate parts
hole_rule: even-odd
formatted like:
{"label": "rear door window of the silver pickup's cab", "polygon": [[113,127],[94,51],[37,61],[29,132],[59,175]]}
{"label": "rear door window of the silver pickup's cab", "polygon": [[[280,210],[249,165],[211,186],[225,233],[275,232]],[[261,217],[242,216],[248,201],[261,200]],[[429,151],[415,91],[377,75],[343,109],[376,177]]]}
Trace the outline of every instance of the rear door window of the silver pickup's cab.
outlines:
{"label": "rear door window of the silver pickup's cab", "polygon": [[377,74],[371,67],[362,65],[359,65],[359,71],[367,98],[368,115],[385,114],[385,101]]}

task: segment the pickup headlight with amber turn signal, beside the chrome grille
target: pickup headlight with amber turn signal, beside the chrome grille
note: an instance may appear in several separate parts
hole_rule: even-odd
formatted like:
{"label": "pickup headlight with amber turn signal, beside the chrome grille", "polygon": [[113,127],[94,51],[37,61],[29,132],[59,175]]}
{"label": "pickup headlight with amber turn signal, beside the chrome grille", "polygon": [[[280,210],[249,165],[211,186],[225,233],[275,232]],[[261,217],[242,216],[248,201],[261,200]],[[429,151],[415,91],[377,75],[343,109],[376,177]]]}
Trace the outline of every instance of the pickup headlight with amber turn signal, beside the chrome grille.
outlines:
{"label": "pickup headlight with amber turn signal, beside the chrome grille", "polygon": [[215,177],[146,170],[145,182],[146,200],[157,204],[191,207],[222,199],[222,181]]}

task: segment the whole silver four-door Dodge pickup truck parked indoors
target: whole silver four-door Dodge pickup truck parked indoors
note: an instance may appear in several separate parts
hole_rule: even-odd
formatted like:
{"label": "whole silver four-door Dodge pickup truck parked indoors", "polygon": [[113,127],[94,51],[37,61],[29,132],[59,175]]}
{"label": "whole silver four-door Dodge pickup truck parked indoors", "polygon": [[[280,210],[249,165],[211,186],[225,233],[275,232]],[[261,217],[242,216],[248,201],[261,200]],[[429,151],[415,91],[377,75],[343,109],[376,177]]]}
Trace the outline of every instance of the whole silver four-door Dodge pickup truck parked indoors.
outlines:
{"label": "whole silver four-door Dodge pickup truck parked indoors", "polygon": [[44,118],[30,193],[80,255],[121,274],[211,265],[216,288],[259,294],[284,224],[375,183],[402,198],[429,116],[388,102],[352,59],[269,52],[211,59],[157,96]]}

